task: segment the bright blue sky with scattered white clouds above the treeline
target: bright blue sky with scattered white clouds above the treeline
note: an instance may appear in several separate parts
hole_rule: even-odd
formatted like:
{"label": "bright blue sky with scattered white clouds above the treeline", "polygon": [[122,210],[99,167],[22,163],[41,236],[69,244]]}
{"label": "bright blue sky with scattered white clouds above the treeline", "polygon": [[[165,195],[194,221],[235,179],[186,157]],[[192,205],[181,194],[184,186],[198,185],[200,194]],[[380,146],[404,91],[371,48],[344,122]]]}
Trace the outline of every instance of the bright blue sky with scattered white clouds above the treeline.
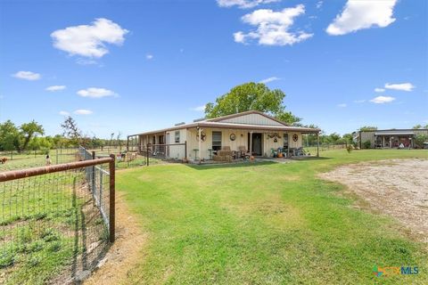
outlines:
{"label": "bright blue sky with scattered white clouds above the treeline", "polygon": [[428,124],[427,11],[410,0],[3,0],[0,121],[57,134],[70,113],[85,134],[135,134],[270,78],[287,110],[327,133]]}

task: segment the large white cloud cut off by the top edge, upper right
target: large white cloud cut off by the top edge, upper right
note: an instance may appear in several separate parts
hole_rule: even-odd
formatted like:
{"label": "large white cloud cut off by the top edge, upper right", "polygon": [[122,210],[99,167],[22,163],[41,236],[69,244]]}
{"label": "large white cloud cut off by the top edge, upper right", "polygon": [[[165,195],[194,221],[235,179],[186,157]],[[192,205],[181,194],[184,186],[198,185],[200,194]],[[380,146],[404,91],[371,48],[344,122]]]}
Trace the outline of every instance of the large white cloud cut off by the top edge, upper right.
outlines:
{"label": "large white cloud cut off by the top edge, upper right", "polygon": [[339,36],[362,28],[387,27],[395,21],[392,18],[395,4],[397,0],[348,0],[326,32]]}

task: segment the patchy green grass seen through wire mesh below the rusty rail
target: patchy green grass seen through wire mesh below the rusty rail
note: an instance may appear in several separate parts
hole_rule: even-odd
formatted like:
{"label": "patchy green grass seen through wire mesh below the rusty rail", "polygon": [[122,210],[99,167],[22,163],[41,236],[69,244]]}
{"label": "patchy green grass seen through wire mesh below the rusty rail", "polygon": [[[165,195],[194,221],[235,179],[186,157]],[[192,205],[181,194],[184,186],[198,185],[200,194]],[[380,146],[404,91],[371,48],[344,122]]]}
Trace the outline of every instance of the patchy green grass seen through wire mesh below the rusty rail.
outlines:
{"label": "patchy green grass seen through wire mesh below the rusty rail", "polygon": [[62,283],[86,266],[88,245],[103,250],[108,231],[84,181],[70,171],[0,183],[0,284]]}

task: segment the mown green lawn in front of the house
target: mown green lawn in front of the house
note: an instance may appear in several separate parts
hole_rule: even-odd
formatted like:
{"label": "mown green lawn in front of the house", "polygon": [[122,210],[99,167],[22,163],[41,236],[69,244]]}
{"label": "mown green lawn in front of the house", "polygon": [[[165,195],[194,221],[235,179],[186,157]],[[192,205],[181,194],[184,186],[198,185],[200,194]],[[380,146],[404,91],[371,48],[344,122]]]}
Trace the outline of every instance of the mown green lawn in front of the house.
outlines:
{"label": "mown green lawn in front of the house", "polygon": [[[323,151],[290,164],[166,165],[118,173],[148,240],[124,283],[427,284],[426,245],[391,218],[367,213],[317,173],[428,151]],[[136,245],[137,246],[137,245]],[[375,277],[374,265],[418,266]]]}

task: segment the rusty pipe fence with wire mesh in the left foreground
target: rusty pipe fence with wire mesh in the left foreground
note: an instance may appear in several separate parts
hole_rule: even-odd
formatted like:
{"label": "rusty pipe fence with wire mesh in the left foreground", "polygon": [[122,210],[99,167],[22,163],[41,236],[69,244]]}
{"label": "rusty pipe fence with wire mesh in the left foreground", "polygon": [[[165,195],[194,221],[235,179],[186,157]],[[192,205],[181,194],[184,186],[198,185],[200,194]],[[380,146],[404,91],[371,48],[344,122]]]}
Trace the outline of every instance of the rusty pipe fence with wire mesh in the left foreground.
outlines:
{"label": "rusty pipe fence with wire mesh in the left foreground", "polygon": [[0,173],[0,283],[67,283],[115,232],[114,156]]}

